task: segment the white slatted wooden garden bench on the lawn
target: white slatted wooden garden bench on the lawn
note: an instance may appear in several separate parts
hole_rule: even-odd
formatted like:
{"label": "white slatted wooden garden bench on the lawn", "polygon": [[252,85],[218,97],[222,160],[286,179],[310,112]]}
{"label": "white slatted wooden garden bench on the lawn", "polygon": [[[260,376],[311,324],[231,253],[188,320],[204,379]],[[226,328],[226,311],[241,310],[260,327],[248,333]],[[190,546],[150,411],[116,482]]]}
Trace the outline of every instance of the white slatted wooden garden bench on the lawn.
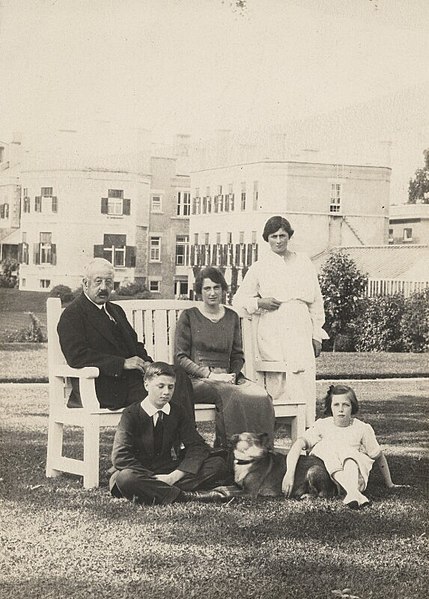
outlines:
{"label": "white slatted wooden garden bench on the lawn", "polygon": [[[147,352],[154,360],[173,362],[174,334],[176,322],[182,310],[194,306],[196,302],[183,300],[127,300],[117,302],[125,310],[140,341],[144,341]],[[100,429],[115,427],[119,423],[122,410],[112,412],[100,408],[95,379],[98,368],[70,368],[61,351],[57,324],[61,316],[61,301],[49,298],[47,301],[48,363],[49,363],[49,426],[46,476],[59,476],[62,472],[83,477],[86,489],[99,484]],[[256,318],[242,319],[243,347],[246,357],[245,374],[248,378],[263,385],[264,372],[272,370],[270,364],[256,360],[255,333]],[[278,369],[284,365],[276,363]],[[71,391],[70,377],[79,379],[82,408],[68,408],[67,400]],[[276,418],[290,418],[292,440],[305,430],[305,404],[290,403],[286,400],[274,403]],[[211,404],[195,405],[197,422],[211,422],[215,419],[215,408]],[[83,459],[63,455],[64,426],[75,426],[83,430]]]}

